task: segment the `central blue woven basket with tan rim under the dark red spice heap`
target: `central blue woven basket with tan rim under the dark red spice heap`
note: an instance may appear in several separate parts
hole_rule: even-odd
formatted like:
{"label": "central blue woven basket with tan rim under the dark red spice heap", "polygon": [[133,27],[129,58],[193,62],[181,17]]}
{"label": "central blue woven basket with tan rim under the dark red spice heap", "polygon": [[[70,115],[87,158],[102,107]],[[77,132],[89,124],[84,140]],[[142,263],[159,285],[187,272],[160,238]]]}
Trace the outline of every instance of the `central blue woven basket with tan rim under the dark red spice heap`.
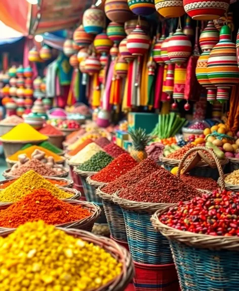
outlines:
{"label": "central blue woven basket with tan rim under the dark red spice heap", "polygon": [[141,264],[164,265],[173,262],[168,240],[157,233],[150,217],[157,209],[167,204],[134,202],[113,194],[113,201],[121,206],[130,253]]}

